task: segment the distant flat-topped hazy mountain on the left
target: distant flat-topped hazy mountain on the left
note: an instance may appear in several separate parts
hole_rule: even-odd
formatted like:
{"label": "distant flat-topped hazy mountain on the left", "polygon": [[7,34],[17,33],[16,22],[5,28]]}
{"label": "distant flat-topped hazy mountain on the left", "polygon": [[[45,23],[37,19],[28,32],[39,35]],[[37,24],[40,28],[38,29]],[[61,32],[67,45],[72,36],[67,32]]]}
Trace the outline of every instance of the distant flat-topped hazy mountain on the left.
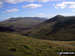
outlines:
{"label": "distant flat-topped hazy mountain on the left", "polygon": [[[40,17],[17,17],[0,22],[0,31],[21,31],[34,27],[44,22],[45,18]],[[7,29],[8,28],[8,29]],[[11,29],[11,30],[10,30]]]}

